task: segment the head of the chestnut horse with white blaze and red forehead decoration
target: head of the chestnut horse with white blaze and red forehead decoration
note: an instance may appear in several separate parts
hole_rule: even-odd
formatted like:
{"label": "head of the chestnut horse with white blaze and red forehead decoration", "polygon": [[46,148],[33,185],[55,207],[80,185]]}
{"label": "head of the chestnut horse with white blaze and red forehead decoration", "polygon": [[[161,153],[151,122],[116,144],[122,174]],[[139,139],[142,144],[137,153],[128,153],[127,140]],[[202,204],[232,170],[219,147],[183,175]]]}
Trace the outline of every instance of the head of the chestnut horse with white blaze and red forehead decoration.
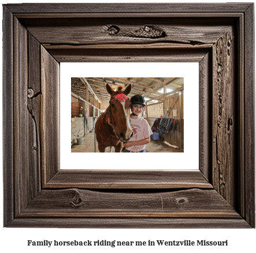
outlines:
{"label": "head of the chestnut horse with white blaze and red forehead decoration", "polygon": [[118,87],[117,91],[114,91],[109,84],[106,84],[106,90],[111,96],[109,101],[111,122],[116,125],[121,142],[128,142],[133,135],[129,109],[131,102],[128,98],[132,85],[129,84],[124,91],[122,87]]}

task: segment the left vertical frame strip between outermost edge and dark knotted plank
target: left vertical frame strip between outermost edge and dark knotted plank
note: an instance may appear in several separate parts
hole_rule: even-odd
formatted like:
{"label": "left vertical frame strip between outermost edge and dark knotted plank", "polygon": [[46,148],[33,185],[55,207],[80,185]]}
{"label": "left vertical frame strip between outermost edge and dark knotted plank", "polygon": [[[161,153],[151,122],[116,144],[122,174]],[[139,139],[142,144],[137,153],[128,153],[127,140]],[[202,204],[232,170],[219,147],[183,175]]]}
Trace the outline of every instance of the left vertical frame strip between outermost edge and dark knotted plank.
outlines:
{"label": "left vertical frame strip between outermost edge and dark knotted plank", "polygon": [[[24,71],[14,72],[13,90],[14,94],[14,166],[18,168],[14,173],[15,185],[15,211],[16,214],[21,212],[31,200],[30,174],[29,174],[29,144],[28,144],[28,103],[27,103],[27,70],[28,70],[28,52],[27,47],[27,30],[21,25],[17,18],[14,18],[14,69],[24,69]],[[34,170],[35,168],[30,168]],[[21,190],[22,189],[22,190]]]}

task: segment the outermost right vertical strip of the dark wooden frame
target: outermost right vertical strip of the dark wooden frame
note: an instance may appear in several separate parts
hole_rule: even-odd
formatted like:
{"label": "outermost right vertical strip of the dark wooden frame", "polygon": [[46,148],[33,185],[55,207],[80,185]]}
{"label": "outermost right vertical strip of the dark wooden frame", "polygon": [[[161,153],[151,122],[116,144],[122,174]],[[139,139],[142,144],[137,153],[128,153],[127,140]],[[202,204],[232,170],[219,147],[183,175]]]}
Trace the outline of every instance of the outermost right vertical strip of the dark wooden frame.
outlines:
{"label": "outermost right vertical strip of the dark wooden frame", "polygon": [[[250,22],[254,17],[254,6],[250,5],[246,9],[246,18],[244,22],[246,25],[244,45],[246,61],[244,69],[244,198],[246,203],[244,217],[246,217],[249,224],[255,227],[255,66],[254,57],[255,49],[251,47],[254,45],[254,22]],[[254,175],[254,176],[252,176]],[[250,218],[249,218],[250,217]]]}

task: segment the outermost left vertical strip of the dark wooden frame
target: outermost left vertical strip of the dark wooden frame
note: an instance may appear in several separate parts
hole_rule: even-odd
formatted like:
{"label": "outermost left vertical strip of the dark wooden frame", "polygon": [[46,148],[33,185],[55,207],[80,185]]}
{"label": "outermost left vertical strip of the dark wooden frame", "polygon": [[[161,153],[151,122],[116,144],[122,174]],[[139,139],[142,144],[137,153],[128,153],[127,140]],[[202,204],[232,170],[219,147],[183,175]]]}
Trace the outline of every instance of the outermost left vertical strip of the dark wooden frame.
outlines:
{"label": "outermost left vertical strip of the dark wooden frame", "polygon": [[13,152],[13,14],[3,6],[3,222],[14,217],[14,152]]}

